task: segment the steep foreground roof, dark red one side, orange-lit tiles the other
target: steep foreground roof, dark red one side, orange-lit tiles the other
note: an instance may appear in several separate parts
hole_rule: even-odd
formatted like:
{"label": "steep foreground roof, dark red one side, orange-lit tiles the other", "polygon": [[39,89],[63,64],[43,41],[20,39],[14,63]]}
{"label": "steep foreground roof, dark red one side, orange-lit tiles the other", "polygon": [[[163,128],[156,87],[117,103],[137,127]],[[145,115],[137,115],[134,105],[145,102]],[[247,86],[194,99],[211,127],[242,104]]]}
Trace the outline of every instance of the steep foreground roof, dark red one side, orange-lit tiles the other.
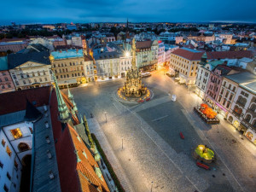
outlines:
{"label": "steep foreground roof, dark red one side, orange-lit tiles the other", "polygon": [[[63,94],[62,94],[63,96]],[[67,97],[67,96],[66,96]],[[67,98],[64,98],[66,100]],[[70,105],[71,102],[67,102]],[[72,104],[72,103],[71,103]],[[71,106],[71,105],[70,105]],[[108,192],[108,185],[104,178],[97,177],[94,166],[97,166],[90,149],[86,147],[82,138],[79,141],[79,134],[72,125],[64,124],[58,120],[58,105],[55,90],[50,100],[51,123],[55,141],[55,151],[58,163],[61,191],[69,192]],[[62,128],[64,130],[62,131]],[[77,162],[77,151],[80,162]],[[84,156],[86,154],[87,158]]]}

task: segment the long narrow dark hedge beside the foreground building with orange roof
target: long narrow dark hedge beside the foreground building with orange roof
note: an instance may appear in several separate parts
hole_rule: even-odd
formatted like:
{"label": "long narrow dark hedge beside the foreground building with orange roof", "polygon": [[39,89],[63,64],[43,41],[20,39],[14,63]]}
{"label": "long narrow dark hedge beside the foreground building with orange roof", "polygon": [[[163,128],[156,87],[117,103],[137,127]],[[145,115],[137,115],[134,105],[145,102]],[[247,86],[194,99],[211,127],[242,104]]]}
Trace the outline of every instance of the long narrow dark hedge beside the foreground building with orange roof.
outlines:
{"label": "long narrow dark hedge beside the foreground building with orange roof", "polygon": [[106,154],[104,153],[104,151],[102,150],[102,147],[100,145],[100,143],[98,142],[98,140],[96,139],[96,136],[91,133],[91,137],[94,141],[94,143],[96,144],[96,148],[98,149],[99,153],[102,155],[102,159],[104,161],[104,163],[106,164],[107,168],[108,168],[108,172],[110,173],[111,177],[113,178],[113,182],[115,183],[115,186],[117,187],[117,189],[119,190],[119,192],[125,192],[125,189],[123,188],[123,186],[121,185],[121,183],[119,182],[119,178],[116,176],[116,174],[113,172],[113,168],[110,165],[108,158],[106,156]]}

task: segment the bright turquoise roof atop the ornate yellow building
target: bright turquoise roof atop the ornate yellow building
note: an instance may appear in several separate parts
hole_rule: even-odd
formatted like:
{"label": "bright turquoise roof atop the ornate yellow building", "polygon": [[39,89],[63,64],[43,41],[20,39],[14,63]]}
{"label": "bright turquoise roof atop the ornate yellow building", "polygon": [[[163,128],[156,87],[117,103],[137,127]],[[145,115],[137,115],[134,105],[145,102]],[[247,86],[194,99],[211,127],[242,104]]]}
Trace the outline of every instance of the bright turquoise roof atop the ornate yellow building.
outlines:
{"label": "bright turquoise roof atop the ornate yellow building", "polygon": [[84,57],[83,49],[67,49],[63,51],[53,51],[51,55],[55,57],[55,60]]}

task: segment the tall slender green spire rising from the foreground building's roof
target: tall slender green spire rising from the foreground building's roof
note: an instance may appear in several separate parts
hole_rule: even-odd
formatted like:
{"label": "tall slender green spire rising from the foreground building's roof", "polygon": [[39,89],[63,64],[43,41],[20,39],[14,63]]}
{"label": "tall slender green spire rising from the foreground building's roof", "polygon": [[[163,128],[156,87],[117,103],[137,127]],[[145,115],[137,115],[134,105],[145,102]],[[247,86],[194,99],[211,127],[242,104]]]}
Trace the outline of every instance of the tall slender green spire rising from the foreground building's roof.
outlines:
{"label": "tall slender green spire rising from the foreground building's roof", "polygon": [[53,79],[55,81],[55,90],[58,102],[58,111],[59,111],[59,120],[61,123],[67,123],[67,121],[71,118],[71,114],[68,112],[67,105],[61,96],[61,90],[59,88],[58,82],[55,78],[55,74],[53,73]]}

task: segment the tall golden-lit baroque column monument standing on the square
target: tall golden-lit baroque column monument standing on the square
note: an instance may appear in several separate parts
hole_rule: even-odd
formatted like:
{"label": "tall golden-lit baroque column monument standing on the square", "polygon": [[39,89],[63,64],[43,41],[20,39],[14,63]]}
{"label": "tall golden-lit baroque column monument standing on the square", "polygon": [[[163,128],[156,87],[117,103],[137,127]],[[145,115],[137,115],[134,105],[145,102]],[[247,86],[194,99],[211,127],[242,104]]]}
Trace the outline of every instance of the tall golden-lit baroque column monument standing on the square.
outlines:
{"label": "tall golden-lit baroque column monument standing on the square", "polygon": [[131,69],[126,73],[125,86],[122,89],[122,92],[125,93],[125,96],[136,96],[140,97],[146,93],[146,88],[142,83],[141,73],[136,67],[136,43],[135,39],[132,39],[132,60],[131,60]]}

